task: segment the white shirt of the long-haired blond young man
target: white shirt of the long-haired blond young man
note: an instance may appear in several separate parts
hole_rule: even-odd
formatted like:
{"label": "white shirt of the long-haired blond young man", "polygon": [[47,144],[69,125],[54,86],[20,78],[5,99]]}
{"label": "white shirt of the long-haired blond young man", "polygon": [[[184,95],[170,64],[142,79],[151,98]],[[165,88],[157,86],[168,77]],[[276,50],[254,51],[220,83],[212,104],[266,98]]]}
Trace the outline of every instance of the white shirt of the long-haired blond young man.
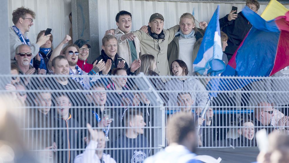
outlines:
{"label": "white shirt of the long-haired blond young man", "polygon": [[183,38],[179,37],[179,60],[182,60],[188,66],[189,75],[193,70],[193,50],[196,43],[196,37]]}

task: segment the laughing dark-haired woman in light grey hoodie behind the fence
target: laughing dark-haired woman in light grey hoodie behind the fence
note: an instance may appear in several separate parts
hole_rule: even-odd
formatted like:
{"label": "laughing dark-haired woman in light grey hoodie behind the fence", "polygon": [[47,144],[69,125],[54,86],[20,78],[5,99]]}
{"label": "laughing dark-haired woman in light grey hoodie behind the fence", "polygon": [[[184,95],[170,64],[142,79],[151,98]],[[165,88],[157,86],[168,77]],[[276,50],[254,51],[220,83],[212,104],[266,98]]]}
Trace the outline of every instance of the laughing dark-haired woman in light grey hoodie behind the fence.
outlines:
{"label": "laughing dark-haired woman in light grey hoodie behind the fence", "polygon": [[188,78],[188,67],[182,60],[172,62],[171,72],[174,76],[179,76],[179,78],[173,78],[165,84],[165,90],[172,91],[168,92],[167,105],[176,106],[178,93],[188,91],[195,101],[196,114],[200,114],[208,101],[208,93],[204,85],[196,78]]}

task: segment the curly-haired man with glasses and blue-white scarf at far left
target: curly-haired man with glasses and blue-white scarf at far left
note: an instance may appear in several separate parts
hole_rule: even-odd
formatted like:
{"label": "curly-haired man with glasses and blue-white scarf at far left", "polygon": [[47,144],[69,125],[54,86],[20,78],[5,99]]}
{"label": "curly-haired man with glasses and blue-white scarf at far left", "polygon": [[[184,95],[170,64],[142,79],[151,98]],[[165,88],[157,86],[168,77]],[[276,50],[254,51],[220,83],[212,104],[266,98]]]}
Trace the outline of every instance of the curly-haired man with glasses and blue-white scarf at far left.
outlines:
{"label": "curly-haired man with glasses and blue-white scarf at far left", "polygon": [[9,37],[10,37],[10,54],[11,59],[15,57],[15,50],[21,44],[27,44],[31,47],[32,57],[35,57],[39,52],[39,47],[47,40],[49,40],[48,34],[44,34],[38,39],[36,44],[31,44],[27,32],[29,32],[30,27],[33,25],[33,19],[35,19],[35,12],[29,8],[24,8],[24,6],[17,8],[12,12],[12,22],[14,26],[9,27]]}

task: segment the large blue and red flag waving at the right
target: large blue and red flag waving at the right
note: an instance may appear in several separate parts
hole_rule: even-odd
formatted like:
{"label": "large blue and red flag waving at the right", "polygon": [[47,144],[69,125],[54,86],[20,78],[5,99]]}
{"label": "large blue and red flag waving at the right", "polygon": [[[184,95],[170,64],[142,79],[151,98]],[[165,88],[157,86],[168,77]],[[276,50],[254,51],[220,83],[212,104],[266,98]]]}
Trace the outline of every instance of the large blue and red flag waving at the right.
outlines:
{"label": "large blue and red flag waving at the right", "polygon": [[[222,76],[271,76],[289,65],[289,11],[285,16],[265,21],[247,6],[243,15],[253,25],[229,61]],[[252,80],[225,84],[238,89]],[[230,87],[230,88],[229,88]]]}

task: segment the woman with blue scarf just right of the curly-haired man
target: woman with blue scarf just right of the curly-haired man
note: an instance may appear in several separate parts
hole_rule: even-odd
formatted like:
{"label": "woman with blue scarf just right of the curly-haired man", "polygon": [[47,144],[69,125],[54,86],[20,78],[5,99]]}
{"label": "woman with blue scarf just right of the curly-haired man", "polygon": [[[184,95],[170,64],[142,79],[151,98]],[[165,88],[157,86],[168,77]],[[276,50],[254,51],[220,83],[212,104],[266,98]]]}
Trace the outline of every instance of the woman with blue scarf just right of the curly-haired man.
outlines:
{"label": "woman with blue scarf just right of the curly-haired man", "polygon": [[[37,41],[38,39],[45,33],[45,30],[42,30],[38,33],[37,35]],[[50,59],[50,56],[52,54],[53,50],[53,36],[49,36],[49,39],[45,42],[45,44],[41,45],[39,48],[39,53],[33,58],[33,67],[37,70],[39,69],[44,69],[47,70],[47,63]]]}

